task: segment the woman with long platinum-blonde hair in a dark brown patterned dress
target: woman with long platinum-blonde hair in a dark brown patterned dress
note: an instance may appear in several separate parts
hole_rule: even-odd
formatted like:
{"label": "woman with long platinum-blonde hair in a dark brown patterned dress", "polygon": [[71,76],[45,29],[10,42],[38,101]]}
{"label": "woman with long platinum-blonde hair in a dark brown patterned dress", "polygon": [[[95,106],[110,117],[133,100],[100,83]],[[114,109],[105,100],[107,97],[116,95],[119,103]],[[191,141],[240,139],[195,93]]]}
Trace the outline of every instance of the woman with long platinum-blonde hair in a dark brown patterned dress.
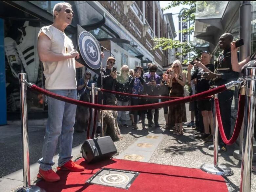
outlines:
{"label": "woman with long platinum-blonde hair in a dark brown patterned dress", "polygon": [[[181,62],[179,60],[175,60],[172,64],[172,71],[170,75],[169,87],[171,91],[169,96],[183,97],[185,84],[186,74],[182,73]],[[175,125],[175,130],[173,132],[174,134],[183,134],[182,122],[186,121],[185,104],[169,106],[168,128],[171,129]]]}

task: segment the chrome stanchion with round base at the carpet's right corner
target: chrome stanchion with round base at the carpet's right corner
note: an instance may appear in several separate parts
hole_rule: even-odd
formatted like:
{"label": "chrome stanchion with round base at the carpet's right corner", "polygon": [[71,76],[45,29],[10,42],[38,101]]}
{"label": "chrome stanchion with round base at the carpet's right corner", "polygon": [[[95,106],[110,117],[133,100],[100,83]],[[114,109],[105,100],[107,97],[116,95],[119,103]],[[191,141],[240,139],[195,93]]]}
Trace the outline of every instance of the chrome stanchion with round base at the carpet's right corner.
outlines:
{"label": "chrome stanchion with round base at the carpet's right corner", "polygon": [[[217,86],[214,86],[217,87]],[[214,95],[214,99],[218,98],[218,94]],[[233,175],[233,171],[231,168],[225,166],[225,165],[219,165],[219,138],[218,138],[218,120],[217,120],[217,115],[216,115],[216,110],[215,110],[215,104],[213,105],[213,115],[214,115],[214,135],[213,135],[213,164],[206,163],[203,164],[200,169],[211,174],[216,174],[216,175],[226,175],[230,176]]]}

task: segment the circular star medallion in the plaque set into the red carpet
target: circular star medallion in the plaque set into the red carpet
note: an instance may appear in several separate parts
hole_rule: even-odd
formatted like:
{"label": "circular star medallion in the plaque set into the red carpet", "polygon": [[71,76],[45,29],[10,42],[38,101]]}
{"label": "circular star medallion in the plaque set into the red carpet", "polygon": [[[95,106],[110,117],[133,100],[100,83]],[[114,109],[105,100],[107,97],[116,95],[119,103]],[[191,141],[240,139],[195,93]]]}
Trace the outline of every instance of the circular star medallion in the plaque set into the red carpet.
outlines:
{"label": "circular star medallion in the plaque set into the red carpet", "polygon": [[103,184],[121,185],[127,183],[129,181],[129,177],[122,173],[109,173],[107,175],[100,176],[99,180]]}

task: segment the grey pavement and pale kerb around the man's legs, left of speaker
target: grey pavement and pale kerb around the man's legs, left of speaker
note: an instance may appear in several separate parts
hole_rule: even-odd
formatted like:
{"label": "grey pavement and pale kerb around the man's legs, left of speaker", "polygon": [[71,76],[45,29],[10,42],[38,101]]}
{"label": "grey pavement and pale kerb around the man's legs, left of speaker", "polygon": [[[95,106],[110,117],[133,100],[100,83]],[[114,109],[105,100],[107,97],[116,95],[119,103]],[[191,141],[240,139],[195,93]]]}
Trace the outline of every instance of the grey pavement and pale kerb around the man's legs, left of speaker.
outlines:
{"label": "grey pavement and pale kerb around the man's legs, left of speaker", "polygon": [[[42,143],[45,134],[47,119],[29,120],[29,155],[31,180],[36,177],[41,158]],[[22,133],[20,121],[8,122],[9,125],[0,127],[0,188],[1,192],[11,191],[13,188],[23,185],[23,157],[22,157]],[[86,140],[86,133],[74,133],[73,150],[74,157],[80,155],[81,145]],[[58,159],[57,147],[53,161]],[[53,166],[55,168],[57,164]]]}

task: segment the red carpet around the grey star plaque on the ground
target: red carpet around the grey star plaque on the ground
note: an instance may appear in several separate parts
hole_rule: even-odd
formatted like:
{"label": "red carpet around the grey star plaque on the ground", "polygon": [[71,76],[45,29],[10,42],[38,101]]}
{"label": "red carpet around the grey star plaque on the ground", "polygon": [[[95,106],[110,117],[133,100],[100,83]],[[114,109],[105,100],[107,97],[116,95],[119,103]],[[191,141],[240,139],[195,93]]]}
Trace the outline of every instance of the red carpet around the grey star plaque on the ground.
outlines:
{"label": "red carpet around the grey star plaque on the ground", "polygon": [[[57,171],[60,181],[47,183],[38,182],[36,185],[47,192],[118,192],[118,191],[184,191],[184,192],[227,192],[227,185],[222,176],[212,175],[196,168],[184,168],[122,159],[110,159],[107,161],[87,165],[83,158],[77,164],[84,166],[83,172]],[[98,184],[85,183],[93,174],[101,168],[114,168],[138,171],[139,176],[130,188],[121,189]]]}

